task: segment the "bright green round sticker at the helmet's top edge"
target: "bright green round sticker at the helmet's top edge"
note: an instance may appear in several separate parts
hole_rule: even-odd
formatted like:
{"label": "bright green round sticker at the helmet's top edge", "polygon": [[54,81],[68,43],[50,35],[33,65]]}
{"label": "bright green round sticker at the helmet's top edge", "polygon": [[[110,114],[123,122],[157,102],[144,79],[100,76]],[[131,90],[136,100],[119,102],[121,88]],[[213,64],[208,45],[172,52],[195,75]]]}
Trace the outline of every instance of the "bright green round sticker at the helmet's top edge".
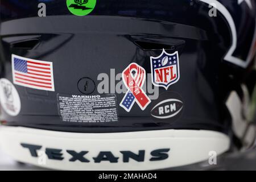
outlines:
{"label": "bright green round sticker at the helmet's top edge", "polygon": [[68,10],[77,16],[91,13],[96,6],[96,0],[67,0]]}

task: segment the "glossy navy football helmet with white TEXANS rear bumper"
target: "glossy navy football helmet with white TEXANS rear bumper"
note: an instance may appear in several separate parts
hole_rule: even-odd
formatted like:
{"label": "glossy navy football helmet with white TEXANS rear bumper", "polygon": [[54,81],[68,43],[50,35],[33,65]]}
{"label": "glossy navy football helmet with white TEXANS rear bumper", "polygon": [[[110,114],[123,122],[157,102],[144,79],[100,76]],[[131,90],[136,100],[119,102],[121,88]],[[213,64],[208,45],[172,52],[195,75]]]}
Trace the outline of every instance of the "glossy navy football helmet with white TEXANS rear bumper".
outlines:
{"label": "glossy navy football helmet with white TEXANS rear bumper", "polygon": [[43,17],[41,1],[1,1],[10,155],[39,165],[42,150],[56,169],[162,169],[241,148],[234,121],[254,118],[254,0],[98,0],[73,14],[90,1],[46,1]]}

